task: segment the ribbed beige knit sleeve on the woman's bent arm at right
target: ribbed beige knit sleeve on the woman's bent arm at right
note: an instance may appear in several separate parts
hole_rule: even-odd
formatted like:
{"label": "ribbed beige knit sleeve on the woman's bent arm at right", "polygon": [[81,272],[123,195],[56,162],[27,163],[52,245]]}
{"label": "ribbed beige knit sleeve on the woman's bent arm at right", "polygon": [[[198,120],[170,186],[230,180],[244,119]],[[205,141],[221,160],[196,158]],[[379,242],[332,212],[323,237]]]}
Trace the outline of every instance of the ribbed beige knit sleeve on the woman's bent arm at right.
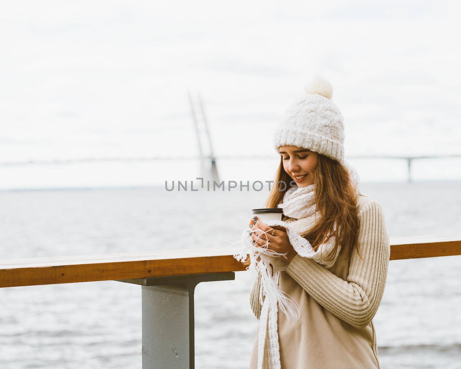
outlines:
{"label": "ribbed beige knit sleeve on the woman's bent arm at right", "polygon": [[343,280],[312,259],[296,255],[286,272],[325,309],[356,328],[365,328],[376,314],[387,278],[389,235],[383,210],[376,200],[359,212],[356,248],[352,250],[349,274]]}

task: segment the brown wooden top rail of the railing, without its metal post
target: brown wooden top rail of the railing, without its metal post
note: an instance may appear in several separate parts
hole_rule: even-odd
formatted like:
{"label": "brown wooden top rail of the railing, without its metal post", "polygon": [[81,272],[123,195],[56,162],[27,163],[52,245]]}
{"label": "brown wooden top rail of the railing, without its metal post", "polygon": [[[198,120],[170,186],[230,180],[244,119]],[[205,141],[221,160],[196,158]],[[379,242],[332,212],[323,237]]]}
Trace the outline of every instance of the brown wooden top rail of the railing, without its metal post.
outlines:
{"label": "brown wooden top rail of the railing, without its metal post", "polygon": [[[391,237],[390,260],[461,255],[461,234]],[[0,287],[124,280],[245,270],[234,249],[185,249],[0,261]]]}

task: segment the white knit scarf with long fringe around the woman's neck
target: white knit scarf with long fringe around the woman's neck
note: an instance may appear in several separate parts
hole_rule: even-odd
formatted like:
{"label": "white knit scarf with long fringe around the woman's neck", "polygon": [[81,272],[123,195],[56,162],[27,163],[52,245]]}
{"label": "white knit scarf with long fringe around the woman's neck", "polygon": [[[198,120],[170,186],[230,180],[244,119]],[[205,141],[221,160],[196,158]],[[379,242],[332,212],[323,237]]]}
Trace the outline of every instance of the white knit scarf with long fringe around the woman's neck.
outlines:
{"label": "white knit scarf with long fringe around the woman's neck", "polygon": [[[360,193],[360,177],[355,168],[351,167],[348,162],[343,161],[343,165],[349,170],[349,177],[357,197]],[[325,259],[330,256],[334,248],[335,236],[320,244],[317,251],[313,250],[307,239],[300,236],[300,233],[310,229],[320,217],[315,204],[314,186],[291,187],[285,192],[283,201],[278,204],[278,207],[283,209],[285,215],[296,220],[290,222],[267,220],[264,224],[267,226],[283,226],[286,228],[290,244],[298,255],[313,259],[315,262],[324,265],[325,268],[331,268],[336,262],[340,247],[338,247],[336,255],[331,261],[327,262]],[[336,226],[334,230],[336,230]],[[258,271],[261,272],[259,301],[262,308],[259,320],[258,369],[281,369],[280,347],[278,344],[278,308],[284,312],[289,321],[298,321],[301,311],[296,300],[278,287],[280,271],[286,270],[288,266],[285,261],[286,254],[267,249],[267,243],[260,247],[254,246],[252,244],[253,239],[249,235],[250,232],[255,231],[248,227],[242,232],[242,250],[240,253],[234,254],[234,257],[243,262],[249,254],[250,265],[247,270],[254,279],[258,278]],[[272,229],[269,232],[272,232]],[[259,232],[260,234],[257,236],[266,238],[264,235],[269,232]],[[256,260],[258,256],[260,256],[260,261]],[[272,264],[273,271],[270,264]],[[263,296],[265,296],[264,301]]]}

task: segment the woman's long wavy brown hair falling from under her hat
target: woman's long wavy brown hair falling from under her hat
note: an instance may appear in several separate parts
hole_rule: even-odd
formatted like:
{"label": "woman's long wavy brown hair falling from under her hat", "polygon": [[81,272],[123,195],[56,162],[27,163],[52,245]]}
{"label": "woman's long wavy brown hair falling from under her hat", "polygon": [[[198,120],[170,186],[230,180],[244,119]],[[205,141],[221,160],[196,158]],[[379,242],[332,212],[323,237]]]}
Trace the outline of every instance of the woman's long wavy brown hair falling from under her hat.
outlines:
{"label": "woman's long wavy brown hair falling from under her hat", "polygon": [[[326,260],[334,259],[338,247],[341,253],[350,252],[357,248],[358,255],[363,260],[357,244],[359,229],[359,217],[355,211],[355,189],[349,178],[349,171],[338,161],[328,156],[318,154],[318,166],[313,173],[315,188],[316,207],[319,211],[319,220],[300,236],[310,242],[314,250],[318,250],[320,244],[328,241],[333,235],[336,238],[334,249]],[[274,177],[274,186],[267,197],[265,208],[277,208],[282,202],[284,194],[290,189],[292,182],[290,175],[285,172],[282,156]],[[282,220],[290,219],[286,215]],[[336,229],[333,226],[336,224]],[[349,256],[348,255],[348,256]],[[249,257],[244,263],[249,265]]]}

